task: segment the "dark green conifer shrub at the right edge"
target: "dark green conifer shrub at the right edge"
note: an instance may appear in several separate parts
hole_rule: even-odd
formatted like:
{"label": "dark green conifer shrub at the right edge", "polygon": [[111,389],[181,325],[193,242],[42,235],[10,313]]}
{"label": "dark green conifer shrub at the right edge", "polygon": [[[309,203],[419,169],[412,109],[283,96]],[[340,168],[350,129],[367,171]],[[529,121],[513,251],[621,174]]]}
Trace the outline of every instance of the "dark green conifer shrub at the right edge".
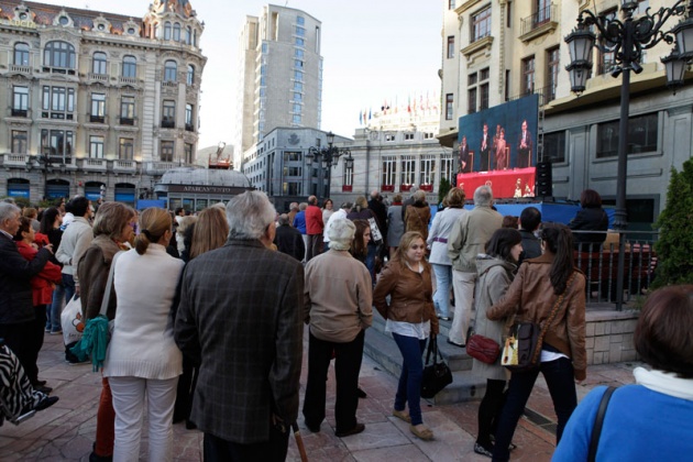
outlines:
{"label": "dark green conifer shrub at the right edge", "polygon": [[654,229],[659,239],[657,272],[653,287],[672,284],[693,284],[693,160],[683,163],[683,169],[671,168],[667,191],[667,208],[661,212]]}

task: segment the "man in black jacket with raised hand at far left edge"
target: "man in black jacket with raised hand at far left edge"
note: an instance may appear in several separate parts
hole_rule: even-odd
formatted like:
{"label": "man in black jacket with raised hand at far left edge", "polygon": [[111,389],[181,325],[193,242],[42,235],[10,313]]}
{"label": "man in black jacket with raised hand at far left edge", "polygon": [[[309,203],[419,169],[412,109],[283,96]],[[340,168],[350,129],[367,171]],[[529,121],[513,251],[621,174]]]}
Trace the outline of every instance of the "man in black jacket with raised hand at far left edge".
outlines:
{"label": "man in black jacket with raised hand at far left edge", "polygon": [[30,280],[41,273],[53,255],[53,245],[44,245],[34,260],[28,261],[19,253],[13,240],[19,227],[19,207],[0,202],[0,338],[4,338],[22,367],[29,370],[35,320]]}

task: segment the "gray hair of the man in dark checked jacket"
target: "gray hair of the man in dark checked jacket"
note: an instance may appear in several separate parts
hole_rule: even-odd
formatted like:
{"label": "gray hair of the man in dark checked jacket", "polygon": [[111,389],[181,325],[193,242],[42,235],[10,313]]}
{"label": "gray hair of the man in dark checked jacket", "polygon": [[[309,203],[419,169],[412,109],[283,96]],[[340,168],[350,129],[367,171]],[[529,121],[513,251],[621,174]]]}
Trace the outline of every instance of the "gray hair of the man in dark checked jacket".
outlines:
{"label": "gray hair of the man in dark checked jacket", "polygon": [[227,204],[229,238],[253,240],[263,237],[276,211],[262,191],[245,191]]}

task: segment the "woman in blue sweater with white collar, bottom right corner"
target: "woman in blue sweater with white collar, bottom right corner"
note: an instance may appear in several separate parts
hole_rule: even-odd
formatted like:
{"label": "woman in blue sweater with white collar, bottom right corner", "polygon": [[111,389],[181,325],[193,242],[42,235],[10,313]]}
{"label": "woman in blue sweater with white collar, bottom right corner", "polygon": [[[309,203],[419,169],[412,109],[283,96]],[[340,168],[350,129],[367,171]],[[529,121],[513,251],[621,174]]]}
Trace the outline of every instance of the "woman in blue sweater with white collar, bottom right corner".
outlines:
{"label": "woman in blue sweater with white collar, bottom right corner", "polygon": [[[595,454],[597,461],[675,461],[693,453],[693,285],[657,290],[645,302],[635,348],[652,369],[634,371],[636,385],[614,392]],[[586,461],[597,387],[573,411],[553,461]]]}

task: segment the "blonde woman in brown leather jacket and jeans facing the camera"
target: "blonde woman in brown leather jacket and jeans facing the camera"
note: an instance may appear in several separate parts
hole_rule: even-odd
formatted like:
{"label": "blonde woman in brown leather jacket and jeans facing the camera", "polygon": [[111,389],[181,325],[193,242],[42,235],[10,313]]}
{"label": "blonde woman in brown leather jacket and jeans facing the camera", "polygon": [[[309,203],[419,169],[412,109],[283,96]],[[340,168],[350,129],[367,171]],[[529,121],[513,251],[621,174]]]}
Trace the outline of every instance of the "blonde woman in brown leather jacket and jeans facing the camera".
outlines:
{"label": "blonde woman in brown leather jacket and jeans facing the camera", "polygon": [[[385,266],[375,285],[373,305],[386,320],[404,363],[395,396],[393,416],[411,424],[409,430],[422,440],[432,440],[433,432],[421,418],[421,354],[429,336],[438,334],[433,308],[431,266],[426,262],[426,242],[418,232],[406,232],[395,257]],[[389,302],[387,301],[389,296]],[[409,403],[409,413],[405,405]]]}

